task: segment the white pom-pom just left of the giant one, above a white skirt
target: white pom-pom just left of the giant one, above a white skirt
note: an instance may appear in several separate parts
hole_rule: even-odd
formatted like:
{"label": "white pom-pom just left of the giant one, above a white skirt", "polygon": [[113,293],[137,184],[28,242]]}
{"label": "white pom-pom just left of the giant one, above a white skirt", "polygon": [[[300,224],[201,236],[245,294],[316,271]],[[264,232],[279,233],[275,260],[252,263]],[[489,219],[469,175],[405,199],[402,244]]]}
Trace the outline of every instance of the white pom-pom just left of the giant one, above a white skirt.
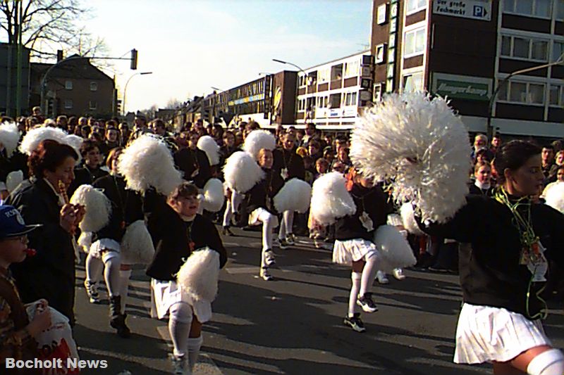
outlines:
{"label": "white pom-pom just left of the giant one, above a white skirt", "polygon": [[313,183],[309,212],[321,225],[336,222],[339,217],[353,215],[357,207],[345,186],[346,179],[339,172],[329,172]]}

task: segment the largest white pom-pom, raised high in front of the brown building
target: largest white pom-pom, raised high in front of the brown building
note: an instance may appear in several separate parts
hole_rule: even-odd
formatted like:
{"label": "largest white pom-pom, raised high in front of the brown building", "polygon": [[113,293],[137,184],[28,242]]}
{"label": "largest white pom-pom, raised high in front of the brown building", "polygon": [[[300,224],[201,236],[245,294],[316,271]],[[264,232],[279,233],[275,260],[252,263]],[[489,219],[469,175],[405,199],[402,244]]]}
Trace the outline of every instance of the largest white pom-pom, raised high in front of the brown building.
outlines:
{"label": "largest white pom-pom, raised high in front of the brown building", "polygon": [[423,220],[445,222],[466,203],[470,143],[443,98],[386,96],[358,120],[350,158],[364,176],[391,180],[396,201],[415,203]]}

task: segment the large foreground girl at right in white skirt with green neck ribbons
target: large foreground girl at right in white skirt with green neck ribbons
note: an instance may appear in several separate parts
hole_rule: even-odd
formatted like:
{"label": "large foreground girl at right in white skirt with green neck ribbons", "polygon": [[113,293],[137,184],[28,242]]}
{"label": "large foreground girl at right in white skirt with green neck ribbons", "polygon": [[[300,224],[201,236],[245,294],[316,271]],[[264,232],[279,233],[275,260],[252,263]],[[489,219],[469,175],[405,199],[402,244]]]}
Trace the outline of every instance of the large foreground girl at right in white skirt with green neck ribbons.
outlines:
{"label": "large foreground girl at right in white skirt with green neck ribbons", "polygon": [[421,224],[468,244],[460,246],[464,304],[454,362],[491,362],[494,374],[562,375],[564,357],[544,333],[539,295],[548,260],[564,265],[564,215],[530,199],[544,180],[538,146],[511,141],[494,167],[500,186],[493,198],[468,196],[446,224]]}

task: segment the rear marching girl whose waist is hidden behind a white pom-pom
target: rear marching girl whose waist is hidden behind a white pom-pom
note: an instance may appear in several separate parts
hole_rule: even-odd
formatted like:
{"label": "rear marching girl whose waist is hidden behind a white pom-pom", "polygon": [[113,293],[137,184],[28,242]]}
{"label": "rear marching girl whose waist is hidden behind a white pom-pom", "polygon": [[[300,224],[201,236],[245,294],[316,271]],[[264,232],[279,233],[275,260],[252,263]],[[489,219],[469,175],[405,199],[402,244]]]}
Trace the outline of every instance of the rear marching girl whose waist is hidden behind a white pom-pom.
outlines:
{"label": "rear marching girl whose waist is hidden behind a white pom-pom", "polygon": [[[276,170],[284,182],[289,179],[298,178],[305,179],[304,161],[295,147],[295,135],[286,133],[282,136],[282,148],[274,150],[274,165]],[[278,241],[280,248],[285,249],[294,245],[293,236],[294,212],[284,211],[282,214],[282,222],[280,223],[280,231],[278,232]]]}

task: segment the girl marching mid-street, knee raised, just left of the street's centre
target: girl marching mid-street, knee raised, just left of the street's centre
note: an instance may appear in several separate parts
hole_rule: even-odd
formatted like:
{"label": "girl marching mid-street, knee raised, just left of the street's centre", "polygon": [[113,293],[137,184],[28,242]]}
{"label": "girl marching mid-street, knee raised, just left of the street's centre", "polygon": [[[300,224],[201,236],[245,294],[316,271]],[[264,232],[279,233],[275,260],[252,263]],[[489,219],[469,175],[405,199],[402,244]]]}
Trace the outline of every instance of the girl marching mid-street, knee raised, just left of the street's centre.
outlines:
{"label": "girl marching mid-street, knee raised, just left of the street's centre", "polygon": [[262,255],[260,262],[260,277],[269,281],[272,279],[269,267],[276,262],[272,251],[272,230],[278,225],[277,212],[273,198],[282,189],[282,177],[272,167],[274,158],[272,151],[262,148],[259,151],[259,165],[264,171],[264,178],[245,194],[247,199],[247,213],[249,225],[262,223]]}

